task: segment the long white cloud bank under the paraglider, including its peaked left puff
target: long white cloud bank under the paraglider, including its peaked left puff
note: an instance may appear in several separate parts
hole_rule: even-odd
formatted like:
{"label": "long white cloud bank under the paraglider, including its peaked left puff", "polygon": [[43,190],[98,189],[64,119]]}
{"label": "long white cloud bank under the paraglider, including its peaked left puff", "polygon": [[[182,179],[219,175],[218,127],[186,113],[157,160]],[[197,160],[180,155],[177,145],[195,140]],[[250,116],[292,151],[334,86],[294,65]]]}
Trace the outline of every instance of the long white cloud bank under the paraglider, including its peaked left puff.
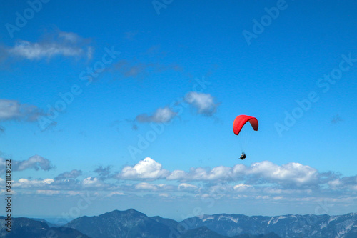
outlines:
{"label": "long white cloud bank under the paraglider, including its peaked left puff", "polygon": [[299,163],[279,166],[263,161],[253,163],[250,167],[236,164],[234,167],[218,166],[213,169],[197,167],[191,168],[189,172],[183,170],[169,172],[149,157],[141,160],[134,167],[124,167],[117,177],[120,179],[167,179],[181,182],[229,182],[240,179],[248,181],[248,184],[273,183],[286,187],[316,186],[319,182],[319,173],[316,169]]}

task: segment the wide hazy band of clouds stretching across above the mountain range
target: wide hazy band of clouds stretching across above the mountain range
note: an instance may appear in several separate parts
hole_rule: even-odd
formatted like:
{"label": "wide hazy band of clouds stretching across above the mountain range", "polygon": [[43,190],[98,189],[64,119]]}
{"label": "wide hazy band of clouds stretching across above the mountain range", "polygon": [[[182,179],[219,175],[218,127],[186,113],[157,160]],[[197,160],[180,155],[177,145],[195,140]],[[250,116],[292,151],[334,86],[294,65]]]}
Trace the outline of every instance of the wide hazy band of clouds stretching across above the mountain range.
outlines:
{"label": "wide hazy band of clouds stretching across above the mountain range", "polygon": [[[4,159],[0,159],[3,168]],[[17,170],[25,168],[49,169],[49,161],[30,157],[16,162]],[[97,174],[83,177],[79,169],[62,172],[54,179],[19,179],[14,182],[16,192],[36,193],[43,196],[75,196],[91,191],[99,197],[146,196],[156,199],[201,198],[248,199],[263,202],[316,203],[329,202],[353,204],[357,202],[357,175],[342,177],[333,172],[300,163],[274,164],[256,162],[250,166],[236,164],[233,167],[196,167],[188,171],[170,172],[161,163],[146,157],[132,166],[126,166],[112,174],[111,167],[98,167]],[[0,179],[0,182],[4,179]],[[213,200],[212,200],[213,199]]]}

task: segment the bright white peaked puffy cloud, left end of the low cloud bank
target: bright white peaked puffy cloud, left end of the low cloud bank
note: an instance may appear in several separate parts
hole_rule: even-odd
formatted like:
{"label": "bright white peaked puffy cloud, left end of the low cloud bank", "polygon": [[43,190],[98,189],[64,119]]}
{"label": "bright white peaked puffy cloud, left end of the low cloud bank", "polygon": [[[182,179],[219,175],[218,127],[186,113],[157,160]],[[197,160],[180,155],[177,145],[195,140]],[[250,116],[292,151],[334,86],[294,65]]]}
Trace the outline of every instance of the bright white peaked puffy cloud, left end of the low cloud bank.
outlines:
{"label": "bright white peaked puffy cloud, left end of the low cloud bank", "polygon": [[134,167],[127,166],[117,175],[119,179],[164,179],[169,171],[162,169],[162,165],[154,159],[146,157]]}

